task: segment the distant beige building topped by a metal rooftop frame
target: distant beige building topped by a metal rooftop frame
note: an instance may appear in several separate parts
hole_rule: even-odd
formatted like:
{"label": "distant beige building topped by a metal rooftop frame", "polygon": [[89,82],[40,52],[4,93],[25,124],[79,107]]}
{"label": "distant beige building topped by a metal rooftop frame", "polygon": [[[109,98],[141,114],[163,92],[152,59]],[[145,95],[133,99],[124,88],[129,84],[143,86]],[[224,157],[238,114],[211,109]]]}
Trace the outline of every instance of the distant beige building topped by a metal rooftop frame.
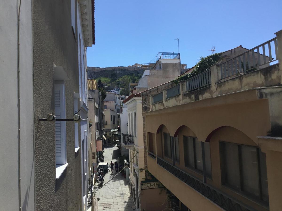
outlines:
{"label": "distant beige building topped by a metal rooftop frame", "polygon": [[180,75],[180,54],[160,52],[152,63],[143,64],[145,69],[135,88],[138,92],[174,80]]}

